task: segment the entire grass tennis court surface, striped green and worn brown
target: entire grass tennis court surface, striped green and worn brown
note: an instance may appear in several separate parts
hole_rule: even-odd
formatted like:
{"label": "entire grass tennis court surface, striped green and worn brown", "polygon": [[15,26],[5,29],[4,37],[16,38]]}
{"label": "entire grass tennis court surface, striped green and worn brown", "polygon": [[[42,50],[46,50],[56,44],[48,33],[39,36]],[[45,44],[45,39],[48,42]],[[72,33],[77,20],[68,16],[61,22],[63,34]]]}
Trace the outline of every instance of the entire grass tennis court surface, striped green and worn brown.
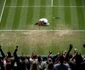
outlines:
{"label": "entire grass tennis court surface, striped green and worn brown", "polygon": [[[47,18],[50,26],[35,26],[40,18]],[[5,51],[19,45],[19,54],[34,49],[55,54],[72,43],[84,54],[84,30],[85,0],[0,0],[0,45]]]}

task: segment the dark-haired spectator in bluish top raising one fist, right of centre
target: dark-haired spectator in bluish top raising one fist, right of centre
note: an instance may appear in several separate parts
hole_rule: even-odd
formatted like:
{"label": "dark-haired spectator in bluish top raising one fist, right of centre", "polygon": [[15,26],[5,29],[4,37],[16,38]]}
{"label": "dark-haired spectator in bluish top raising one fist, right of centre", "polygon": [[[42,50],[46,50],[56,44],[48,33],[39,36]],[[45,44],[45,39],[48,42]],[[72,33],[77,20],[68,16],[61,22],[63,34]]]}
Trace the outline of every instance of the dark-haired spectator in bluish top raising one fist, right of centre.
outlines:
{"label": "dark-haired spectator in bluish top raising one fist, right of centre", "polygon": [[63,56],[62,54],[61,55],[58,55],[57,57],[57,62],[54,67],[55,67],[55,70],[71,70],[69,64],[67,63],[69,61],[69,53],[72,49],[72,45],[70,44],[70,47],[69,47],[69,50],[66,54],[66,56]]}

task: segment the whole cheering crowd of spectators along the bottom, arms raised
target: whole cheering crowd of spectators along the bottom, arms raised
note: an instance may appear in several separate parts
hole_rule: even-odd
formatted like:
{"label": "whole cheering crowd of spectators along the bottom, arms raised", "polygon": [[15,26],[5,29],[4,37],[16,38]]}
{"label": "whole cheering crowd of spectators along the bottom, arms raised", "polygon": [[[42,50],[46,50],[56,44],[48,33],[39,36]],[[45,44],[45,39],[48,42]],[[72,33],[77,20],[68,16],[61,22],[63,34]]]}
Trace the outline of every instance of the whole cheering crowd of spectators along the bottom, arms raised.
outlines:
{"label": "whole cheering crowd of spectators along the bottom, arms raised", "polygon": [[[83,45],[85,48],[85,44]],[[68,51],[59,52],[52,55],[52,51],[43,60],[34,50],[28,58],[26,55],[17,55],[18,46],[16,46],[13,55],[11,52],[4,54],[1,46],[0,52],[0,70],[85,70],[85,57],[81,55],[77,49],[71,54],[73,45],[69,45]]]}

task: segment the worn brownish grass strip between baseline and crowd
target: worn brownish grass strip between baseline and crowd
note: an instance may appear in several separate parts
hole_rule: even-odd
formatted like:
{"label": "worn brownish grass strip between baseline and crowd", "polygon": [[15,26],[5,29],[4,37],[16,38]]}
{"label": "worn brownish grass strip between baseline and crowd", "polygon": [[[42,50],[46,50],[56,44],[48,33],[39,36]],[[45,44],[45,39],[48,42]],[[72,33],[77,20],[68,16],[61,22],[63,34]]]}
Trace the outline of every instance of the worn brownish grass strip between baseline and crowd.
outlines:
{"label": "worn brownish grass strip between baseline and crowd", "polygon": [[36,50],[38,54],[53,54],[67,50],[73,44],[82,54],[85,53],[85,32],[75,31],[14,31],[0,32],[0,45],[4,51],[13,51],[19,46],[18,53],[31,54]]}

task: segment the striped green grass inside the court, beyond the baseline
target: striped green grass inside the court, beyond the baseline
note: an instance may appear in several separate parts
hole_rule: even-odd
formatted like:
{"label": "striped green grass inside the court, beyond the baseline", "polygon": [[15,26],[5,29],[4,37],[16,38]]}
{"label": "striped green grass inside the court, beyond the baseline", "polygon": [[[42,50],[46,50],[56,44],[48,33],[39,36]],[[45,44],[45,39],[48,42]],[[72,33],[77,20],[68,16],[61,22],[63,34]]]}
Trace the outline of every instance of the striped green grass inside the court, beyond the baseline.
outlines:
{"label": "striped green grass inside the court, beyond the baseline", "polygon": [[[7,0],[3,12],[2,21],[0,23],[0,29],[58,30],[57,28],[58,24],[65,26],[67,25],[66,26],[67,28],[64,28],[63,26],[61,27],[61,30],[68,28],[71,30],[85,29],[85,14],[84,14],[85,7],[78,7],[85,6],[84,0],[57,0],[57,1],[54,0],[53,2],[54,2],[53,7],[51,7],[51,0],[37,0],[37,1]],[[10,7],[10,6],[27,6],[27,7]],[[36,26],[33,24],[43,17],[49,20],[50,26],[36,28]],[[53,17],[60,17],[61,19],[55,19]]]}

